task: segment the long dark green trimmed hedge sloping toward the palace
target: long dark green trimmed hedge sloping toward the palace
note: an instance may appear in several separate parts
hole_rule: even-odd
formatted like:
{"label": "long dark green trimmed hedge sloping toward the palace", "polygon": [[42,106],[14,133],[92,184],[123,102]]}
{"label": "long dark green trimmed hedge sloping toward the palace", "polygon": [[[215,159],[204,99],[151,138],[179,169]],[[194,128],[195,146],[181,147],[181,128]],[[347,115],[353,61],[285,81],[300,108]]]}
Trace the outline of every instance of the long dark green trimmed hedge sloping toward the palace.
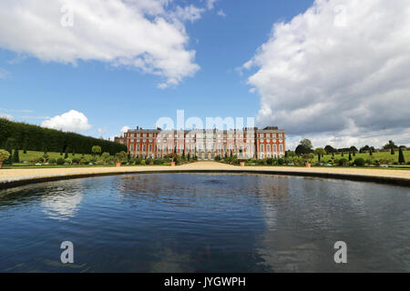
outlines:
{"label": "long dark green trimmed hedge sloping toward the palace", "polygon": [[93,146],[101,146],[102,152],[112,156],[127,152],[127,146],[107,140],[0,118],[0,147],[5,147],[8,138],[13,139],[19,149],[30,151],[92,154]]}

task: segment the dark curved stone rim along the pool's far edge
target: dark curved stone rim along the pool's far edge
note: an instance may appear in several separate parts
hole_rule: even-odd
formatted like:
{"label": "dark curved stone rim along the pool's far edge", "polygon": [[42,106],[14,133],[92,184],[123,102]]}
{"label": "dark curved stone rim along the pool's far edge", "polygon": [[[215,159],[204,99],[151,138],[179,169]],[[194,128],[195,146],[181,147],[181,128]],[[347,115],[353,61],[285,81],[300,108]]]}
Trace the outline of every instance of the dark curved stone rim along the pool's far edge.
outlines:
{"label": "dark curved stone rim along the pool's far edge", "polygon": [[135,170],[135,171],[113,171],[86,174],[69,174],[59,176],[25,176],[23,178],[11,178],[0,180],[0,190],[39,184],[46,182],[56,182],[61,180],[81,179],[98,176],[126,176],[126,175],[159,175],[159,174],[239,174],[248,175],[271,175],[271,176],[300,176],[316,177],[337,180],[348,180],[356,182],[378,183],[392,186],[410,186],[410,179],[394,176],[370,176],[360,174],[330,173],[330,172],[304,172],[304,171],[283,171],[272,169],[160,169],[160,170]]}

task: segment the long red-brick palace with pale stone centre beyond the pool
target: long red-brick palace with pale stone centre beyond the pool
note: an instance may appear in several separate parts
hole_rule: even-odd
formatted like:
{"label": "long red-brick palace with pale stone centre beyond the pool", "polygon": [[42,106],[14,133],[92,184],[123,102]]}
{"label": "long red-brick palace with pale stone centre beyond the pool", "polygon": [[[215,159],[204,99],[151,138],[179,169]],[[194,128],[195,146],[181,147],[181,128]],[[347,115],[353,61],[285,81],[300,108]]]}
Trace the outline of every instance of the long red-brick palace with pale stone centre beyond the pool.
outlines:
{"label": "long red-brick palace with pale stone centre beyond the pool", "polygon": [[216,156],[236,155],[239,158],[282,157],[286,151],[285,131],[268,126],[242,130],[193,129],[161,130],[130,129],[115,139],[128,146],[131,156],[160,158],[171,153],[213,160]]}

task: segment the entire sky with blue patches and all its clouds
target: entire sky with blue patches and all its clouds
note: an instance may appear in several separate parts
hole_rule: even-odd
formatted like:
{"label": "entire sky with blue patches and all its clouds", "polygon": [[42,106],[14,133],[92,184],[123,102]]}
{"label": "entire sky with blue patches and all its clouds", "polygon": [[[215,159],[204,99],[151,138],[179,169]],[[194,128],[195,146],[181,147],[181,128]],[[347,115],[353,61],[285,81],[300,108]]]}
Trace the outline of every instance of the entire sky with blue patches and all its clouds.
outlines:
{"label": "entire sky with blue patches and all its clouds", "polygon": [[5,0],[0,116],[108,138],[184,109],[254,116],[291,148],[409,145],[408,5]]}

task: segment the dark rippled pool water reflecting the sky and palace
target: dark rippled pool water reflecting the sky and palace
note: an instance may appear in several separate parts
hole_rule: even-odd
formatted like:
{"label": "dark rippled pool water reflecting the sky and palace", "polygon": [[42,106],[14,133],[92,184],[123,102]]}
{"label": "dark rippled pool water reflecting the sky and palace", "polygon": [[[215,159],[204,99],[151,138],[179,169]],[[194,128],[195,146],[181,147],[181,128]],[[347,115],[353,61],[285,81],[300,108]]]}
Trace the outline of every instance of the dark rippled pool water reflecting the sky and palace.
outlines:
{"label": "dark rippled pool water reflecting the sky and palace", "polygon": [[174,174],[0,191],[0,271],[409,272],[410,188]]}

